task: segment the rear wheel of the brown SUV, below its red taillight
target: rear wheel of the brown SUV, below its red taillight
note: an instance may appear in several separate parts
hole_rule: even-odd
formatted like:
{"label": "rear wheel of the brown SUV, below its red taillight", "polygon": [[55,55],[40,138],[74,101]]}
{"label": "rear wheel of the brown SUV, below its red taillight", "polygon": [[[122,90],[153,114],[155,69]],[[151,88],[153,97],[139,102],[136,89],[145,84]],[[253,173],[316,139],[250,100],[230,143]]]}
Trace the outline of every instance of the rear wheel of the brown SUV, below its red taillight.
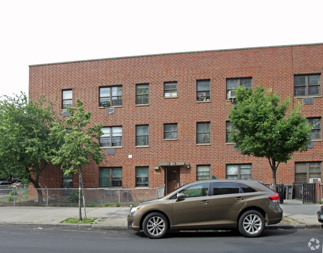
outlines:
{"label": "rear wheel of the brown SUV, below its red taillight", "polygon": [[256,210],[246,211],[239,219],[238,228],[244,237],[257,237],[265,229],[264,216]]}

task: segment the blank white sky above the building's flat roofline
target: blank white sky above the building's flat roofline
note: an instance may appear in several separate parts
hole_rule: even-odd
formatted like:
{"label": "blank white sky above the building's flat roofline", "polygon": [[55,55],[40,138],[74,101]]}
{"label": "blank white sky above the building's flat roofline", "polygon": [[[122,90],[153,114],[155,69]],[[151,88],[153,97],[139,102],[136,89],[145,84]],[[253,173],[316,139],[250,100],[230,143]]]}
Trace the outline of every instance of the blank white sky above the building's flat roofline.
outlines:
{"label": "blank white sky above the building's flat roofline", "polygon": [[323,1],[16,0],[0,3],[0,95],[28,65],[323,42]]}

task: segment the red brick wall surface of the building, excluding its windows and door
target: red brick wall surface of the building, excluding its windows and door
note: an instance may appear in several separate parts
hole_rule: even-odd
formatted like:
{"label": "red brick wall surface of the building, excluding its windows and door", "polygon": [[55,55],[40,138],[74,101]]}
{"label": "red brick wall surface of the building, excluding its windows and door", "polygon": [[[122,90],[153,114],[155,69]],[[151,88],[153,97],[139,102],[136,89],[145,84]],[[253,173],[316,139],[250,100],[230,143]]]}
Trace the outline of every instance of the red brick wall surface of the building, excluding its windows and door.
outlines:
{"label": "red brick wall surface of the building, excluding its windows and door", "polygon": [[[321,73],[323,45],[299,45],[254,49],[192,52],[141,57],[125,57],[97,61],[79,61],[29,67],[29,96],[41,94],[54,101],[61,111],[61,90],[73,90],[73,106],[80,98],[92,112],[91,125],[122,126],[122,148],[115,155],[104,155],[100,165],[84,166],[85,187],[99,187],[99,167],[122,166],[123,187],[135,186],[135,166],[149,166],[149,185],[165,183],[165,167],[154,170],[162,162],[185,162],[180,168],[180,184],[196,180],[196,166],[210,164],[211,175],[225,178],[226,164],[252,164],[252,178],[272,182],[266,158],[242,156],[233,145],[225,143],[225,121],[230,105],[226,103],[226,78],[252,77],[252,86],[274,87],[283,99],[294,98],[295,74]],[[211,102],[196,101],[196,80],[210,79]],[[178,97],[163,98],[163,82],[177,81]],[[135,106],[136,84],[149,83],[149,105]],[[323,79],[321,76],[321,84]],[[122,107],[106,115],[99,108],[99,87],[122,85]],[[304,105],[303,115],[321,117],[321,97]],[[211,122],[211,145],[196,145],[196,122]],[[163,140],[163,124],[178,123],[178,140]],[[135,147],[135,126],[149,124],[149,147]],[[128,158],[132,155],[132,158]],[[287,164],[280,164],[277,183],[294,181],[295,162],[322,161],[322,142],[305,153],[295,153]],[[186,164],[190,164],[187,169]],[[61,187],[59,166],[50,166],[41,174],[42,187]],[[73,177],[78,186],[78,175]]]}

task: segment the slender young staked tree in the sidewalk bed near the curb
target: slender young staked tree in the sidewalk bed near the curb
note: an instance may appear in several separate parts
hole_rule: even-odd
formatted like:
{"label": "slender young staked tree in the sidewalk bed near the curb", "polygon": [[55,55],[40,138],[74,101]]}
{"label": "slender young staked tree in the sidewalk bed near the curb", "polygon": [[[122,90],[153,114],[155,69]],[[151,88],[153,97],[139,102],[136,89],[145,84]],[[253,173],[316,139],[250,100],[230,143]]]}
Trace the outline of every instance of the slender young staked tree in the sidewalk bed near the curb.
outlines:
{"label": "slender young staked tree in the sidewalk bed near the curb", "polygon": [[[77,99],[77,108],[67,107],[70,117],[65,123],[56,123],[52,128],[51,136],[62,145],[55,151],[56,156],[51,160],[54,165],[61,164],[61,169],[65,175],[70,173],[79,174],[79,220],[82,220],[81,198],[85,211],[85,196],[83,191],[82,165],[89,164],[90,159],[99,164],[103,160],[98,141],[103,135],[102,124],[93,127],[86,125],[90,122],[91,112],[85,112],[84,104]],[[95,140],[94,140],[95,139]],[[82,190],[82,191],[81,191]],[[85,212],[86,219],[86,212]]]}

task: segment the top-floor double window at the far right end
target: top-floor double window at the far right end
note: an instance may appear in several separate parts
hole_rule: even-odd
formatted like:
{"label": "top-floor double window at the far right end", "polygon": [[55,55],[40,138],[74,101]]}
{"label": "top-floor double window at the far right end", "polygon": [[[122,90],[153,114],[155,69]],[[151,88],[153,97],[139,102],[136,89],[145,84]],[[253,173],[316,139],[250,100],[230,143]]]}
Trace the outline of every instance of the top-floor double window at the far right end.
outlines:
{"label": "top-floor double window at the far right end", "polygon": [[295,75],[294,96],[318,96],[320,95],[320,75]]}

